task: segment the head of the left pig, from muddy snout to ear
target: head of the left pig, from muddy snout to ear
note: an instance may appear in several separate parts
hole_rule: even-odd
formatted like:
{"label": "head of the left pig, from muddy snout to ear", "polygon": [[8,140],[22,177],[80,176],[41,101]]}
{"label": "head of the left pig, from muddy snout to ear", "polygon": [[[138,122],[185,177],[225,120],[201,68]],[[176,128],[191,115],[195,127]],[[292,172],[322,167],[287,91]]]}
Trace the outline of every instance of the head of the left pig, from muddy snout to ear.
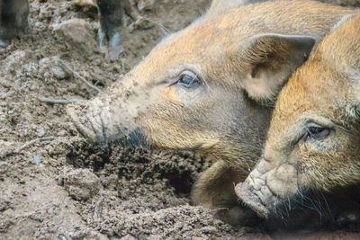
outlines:
{"label": "head of the left pig, from muddy snout to ear", "polygon": [[315,40],[243,33],[233,21],[238,15],[204,17],[168,36],[121,81],[68,114],[93,140],[198,148],[252,162],[270,114],[258,102],[275,96]]}

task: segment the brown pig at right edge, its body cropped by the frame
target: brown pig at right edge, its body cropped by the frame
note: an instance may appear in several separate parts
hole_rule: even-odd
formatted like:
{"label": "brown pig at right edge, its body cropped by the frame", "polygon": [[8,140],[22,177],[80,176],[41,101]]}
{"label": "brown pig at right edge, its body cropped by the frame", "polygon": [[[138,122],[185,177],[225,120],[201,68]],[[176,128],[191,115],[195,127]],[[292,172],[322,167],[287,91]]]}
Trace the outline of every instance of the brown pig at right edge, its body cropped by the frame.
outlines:
{"label": "brown pig at right edge, its body cropped by the frame", "polygon": [[270,218],[295,200],[309,198],[307,192],[358,184],[359,163],[357,14],[338,22],[279,94],[264,154],[236,192],[259,216]]}

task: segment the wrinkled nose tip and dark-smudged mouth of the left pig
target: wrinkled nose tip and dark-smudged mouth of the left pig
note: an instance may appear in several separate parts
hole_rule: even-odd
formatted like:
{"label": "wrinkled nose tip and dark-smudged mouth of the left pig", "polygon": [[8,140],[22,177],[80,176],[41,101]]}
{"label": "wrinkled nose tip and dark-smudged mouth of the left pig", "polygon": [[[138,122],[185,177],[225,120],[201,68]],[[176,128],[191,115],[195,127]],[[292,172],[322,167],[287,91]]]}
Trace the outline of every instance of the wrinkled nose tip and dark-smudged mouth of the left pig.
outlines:
{"label": "wrinkled nose tip and dark-smudged mouth of the left pig", "polygon": [[72,104],[68,106],[67,116],[72,120],[80,135],[93,144],[106,147],[111,145],[149,147],[147,135],[142,129],[123,126],[109,129],[107,126],[108,120],[104,120],[102,111],[91,111],[88,104]]}

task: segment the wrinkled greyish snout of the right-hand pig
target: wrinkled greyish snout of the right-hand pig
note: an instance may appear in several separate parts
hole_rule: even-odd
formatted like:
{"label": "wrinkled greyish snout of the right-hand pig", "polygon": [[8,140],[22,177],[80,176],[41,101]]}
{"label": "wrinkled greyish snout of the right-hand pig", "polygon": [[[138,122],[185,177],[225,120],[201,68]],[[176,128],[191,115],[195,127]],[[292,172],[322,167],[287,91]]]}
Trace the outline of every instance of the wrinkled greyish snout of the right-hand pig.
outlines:
{"label": "wrinkled greyish snout of the right-hand pig", "polygon": [[268,165],[266,160],[260,160],[246,181],[235,187],[238,198],[261,218],[276,214],[284,204],[289,204],[298,190],[297,171],[293,165],[281,164],[275,168]]}

